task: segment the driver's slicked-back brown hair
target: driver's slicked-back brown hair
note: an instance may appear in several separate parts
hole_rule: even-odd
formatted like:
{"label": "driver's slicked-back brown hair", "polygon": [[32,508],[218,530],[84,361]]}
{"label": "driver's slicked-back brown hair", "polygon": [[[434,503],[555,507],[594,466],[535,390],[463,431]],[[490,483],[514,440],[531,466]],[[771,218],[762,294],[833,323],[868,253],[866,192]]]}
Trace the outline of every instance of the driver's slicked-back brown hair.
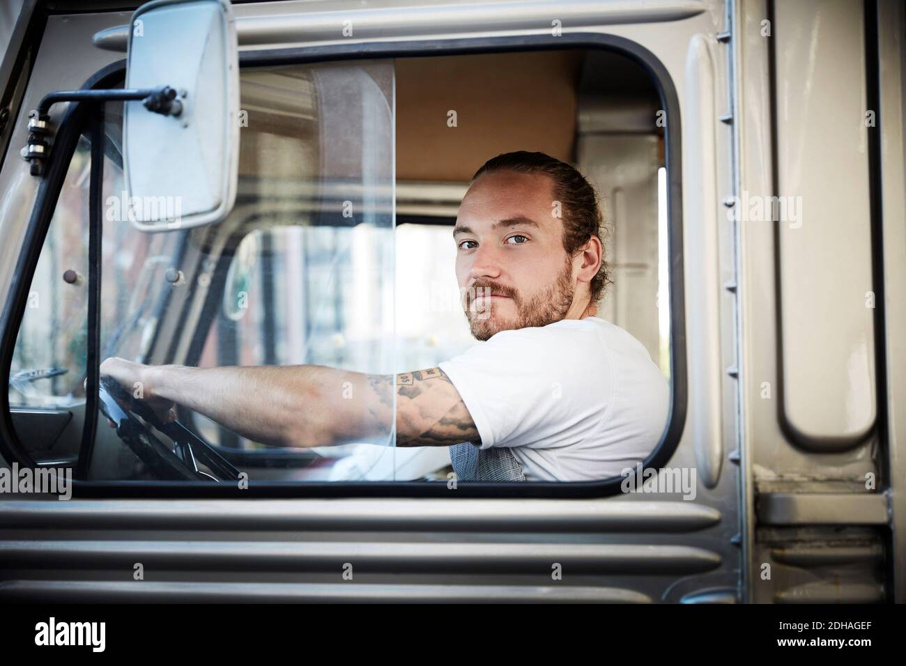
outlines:
{"label": "driver's slicked-back brown hair", "polygon": [[[516,150],[488,159],[472,177],[474,182],[483,173],[516,171],[517,173],[543,173],[554,181],[554,198],[560,202],[564,221],[564,249],[575,256],[592,236],[597,236],[603,246],[602,215],[598,193],[572,165],[545,155],[543,152]],[[604,287],[611,282],[607,262],[601,257],[601,268],[589,283],[592,303],[597,304]]]}

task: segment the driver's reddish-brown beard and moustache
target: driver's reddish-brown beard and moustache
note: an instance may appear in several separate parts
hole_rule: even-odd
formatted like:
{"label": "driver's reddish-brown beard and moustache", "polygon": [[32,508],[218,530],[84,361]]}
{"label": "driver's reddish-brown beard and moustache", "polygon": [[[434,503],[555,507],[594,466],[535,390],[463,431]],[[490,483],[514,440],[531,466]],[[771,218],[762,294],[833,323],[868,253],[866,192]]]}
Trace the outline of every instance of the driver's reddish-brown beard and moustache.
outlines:
{"label": "driver's reddish-brown beard and moustache", "polygon": [[[463,295],[463,306],[468,326],[476,340],[485,341],[495,333],[514,331],[529,326],[546,326],[564,318],[573,304],[572,257],[566,255],[564,269],[554,283],[535,294],[520,294],[516,289],[485,280],[476,281]],[[509,296],[516,305],[516,316],[500,314],[494,301],[484,299],[476,303],[478,296]]]}

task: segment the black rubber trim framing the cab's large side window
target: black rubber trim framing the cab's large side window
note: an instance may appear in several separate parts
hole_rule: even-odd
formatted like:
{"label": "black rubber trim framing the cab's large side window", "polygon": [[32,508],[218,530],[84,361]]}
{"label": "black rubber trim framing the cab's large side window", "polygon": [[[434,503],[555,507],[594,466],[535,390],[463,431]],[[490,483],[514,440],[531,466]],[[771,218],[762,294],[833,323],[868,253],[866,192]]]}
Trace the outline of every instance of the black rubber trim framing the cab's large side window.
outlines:
{"label": "black rubber trim framing the cab's large side window", "polygon": [[[679,445],[679,439],[686,422],[688,401],[687,389],[687,362],[686,362],[686,318],[684,303],[684,277],[683,277],[683,246],[682,246],[682,155],[681,155],[681,121],[679,98],[673,85],[669,72],[660,60],[648,49],[639,43],[612,34],[564,34],[552,38],[547,35],[519,35],[515,37],[481,37],[465,39],[449,39],[436,41],[415,40],[410,42],[377,42],[357,44],[337,44],[330,46],[316,46],[304,49],[276,49],[269,51],[240,53],[242,66],[273,66],[280,64],[336,62],[342,60],[360,60],[367,58],[396,58],[407,56],[429,55],[455,55],[465,53],[503,53],[520,51],[548,51],[576,48],[607,49],[622,53],[630,57],[651,76],[659,96],[662,108],[667,111],[670,123],[665,128],[665,161],[667,177],[669,179],[668,210],[669,210],[669,243],[670,243],[670,340],[671,340],[671,405],[670,417],[660,444],[649,458],[643,461],[643,468],[665,467]],[[122,63],[111,67],[122,67]],[[102,72],[110,74],[111,67]],[[121,77],[121,72],[120,72]],[[92,77],[92,81],[101,79],[101,73]],[[87,85],[87,84],[86,84]],[[54,150],[57,156],[63,150]],[[66,159],[68,164],[69,157]],[[59,159],[53,159],[53,167],[65,173],[65,165],[60,166]],[[62,178],[57,175],[58,178]],[[46,185],[44,183],[43,185]],[[17,267],[17,280],[11,292],[11,300],[16,307],[5,314],[3,318],[3,365],[0,366],[0,379],[8,384],[10,358],[12,356],[12,326],[9,314],[16,314],[13,320],[19,322],[24,312],[25,298],[28,282],[34,272],[37,256],[40,254],[46,225],[53,215],[56,204],[56,194],[59,192],[59,183],[53,192],[53,201],[48,206],[48,193],[39,192],[39,204],[35,208],[35,216],[28,236],[26,236],[26,252],[23,256],[31,259],[29,262],[20,261]],[[39,216],[38,213],[42,215]],[[46,219],[45,219],[46,217]],[[43,225],[40,236],[37,228]],[[15,327],[17,328],[17,326]],[[0,391],[3,392],[3,391]],[[8,399],[0,402],[0,409],[4,410],[0,422],[0,435],[4,441],[14,439],[14,430],[9,416]],[[19,453],[21,445],[16,440],[9,442],[6,450]],[[21,459],[21,458],[20,458]],[[280,482],[255,482],[250,479],[249,487],[240,490],[238,487],[228,487],[224,484],[205,483],[203,481],[192,483],[170,483],[166,481],[93,481],[73,482],[73,496],[75,497],[602,497],[615,495],[620,492],[622,477],[614,477],[602,481],[573,481],[573,482],[546,482],[537,481],[525,483],[486,483],[467,482],[459,483],[456,491],[448,489],[446,483],[439,482],[306,482],[306,483],[280,483]]]}

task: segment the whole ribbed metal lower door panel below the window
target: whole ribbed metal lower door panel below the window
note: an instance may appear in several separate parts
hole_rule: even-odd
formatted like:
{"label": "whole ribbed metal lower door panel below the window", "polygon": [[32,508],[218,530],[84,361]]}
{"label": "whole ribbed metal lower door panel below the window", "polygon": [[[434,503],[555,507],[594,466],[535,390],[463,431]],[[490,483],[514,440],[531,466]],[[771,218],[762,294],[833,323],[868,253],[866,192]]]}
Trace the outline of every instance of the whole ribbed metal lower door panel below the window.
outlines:
{"label": "whole ribbed metal lower door panel below the window", "polygon": [[5,501],[0,601],[660,602],[719,575],[720,522],[681,500]]}

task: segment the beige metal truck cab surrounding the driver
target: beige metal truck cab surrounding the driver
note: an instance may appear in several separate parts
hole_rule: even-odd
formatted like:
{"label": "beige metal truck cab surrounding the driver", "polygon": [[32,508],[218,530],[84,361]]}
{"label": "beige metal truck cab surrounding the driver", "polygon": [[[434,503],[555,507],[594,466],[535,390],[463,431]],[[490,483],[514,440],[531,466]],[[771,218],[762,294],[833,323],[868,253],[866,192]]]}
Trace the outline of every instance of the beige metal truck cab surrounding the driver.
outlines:
{"label": "beige metal truck cab surrounding the driver", "polygon": [[[906,601],[901,5],[209,2],[236,81],[206,94],[236,107],[199,101],[175,141],[115,99],[160,4],[124,5],[6,28],[0,463],[73,480],[0,494],[0,599]],[[106,97],[42,121],[60,91]],[[670,384],[653,474],[457,482],[446,447],[280,448],[184,407],[107,426],[110,356],[394,374],[467,350],[452,228],[510,150],[602,196],[599,316]],[[141,169],[192,180],[136,198]]]}

